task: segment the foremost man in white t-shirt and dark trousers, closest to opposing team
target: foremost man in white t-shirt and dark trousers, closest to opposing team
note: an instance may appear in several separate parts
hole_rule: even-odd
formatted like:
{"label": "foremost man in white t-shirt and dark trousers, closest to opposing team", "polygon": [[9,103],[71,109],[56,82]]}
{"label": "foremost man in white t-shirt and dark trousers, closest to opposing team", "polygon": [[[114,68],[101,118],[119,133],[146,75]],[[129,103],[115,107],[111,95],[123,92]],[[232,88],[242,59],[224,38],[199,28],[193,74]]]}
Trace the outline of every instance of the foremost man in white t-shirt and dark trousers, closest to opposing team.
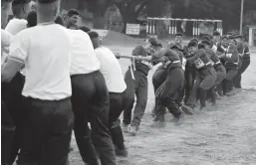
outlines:
{"label": "foremost man in white t-shirt and dark trousers, closest to opposing team", "polygon": [[113,52],[101,46],[99,34],[90,31],[89,36],[93,42],[96,57],[101,63],[100,72],[103,74],[110,93],[109,130],[117,156],[128,156],[125,139],[119,119],[127,101],[127,84],[125,83],[121,65]]}

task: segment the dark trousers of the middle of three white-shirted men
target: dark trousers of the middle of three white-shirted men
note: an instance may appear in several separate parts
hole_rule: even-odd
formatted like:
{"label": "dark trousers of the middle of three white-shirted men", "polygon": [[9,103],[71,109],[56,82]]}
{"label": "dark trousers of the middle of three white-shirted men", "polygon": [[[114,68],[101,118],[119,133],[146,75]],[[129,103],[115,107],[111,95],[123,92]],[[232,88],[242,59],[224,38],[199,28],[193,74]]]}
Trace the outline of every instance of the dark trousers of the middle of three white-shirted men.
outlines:
{"label": "dark trousers of the middle of three white-shirted men", "polygon": [[75,75],[71,77],[71,81],[74,131],[83,161],[97,165],[97,149],[102,164],[116,165],[114,145],[108,129],[109,91],[103,75],[99,71]]}

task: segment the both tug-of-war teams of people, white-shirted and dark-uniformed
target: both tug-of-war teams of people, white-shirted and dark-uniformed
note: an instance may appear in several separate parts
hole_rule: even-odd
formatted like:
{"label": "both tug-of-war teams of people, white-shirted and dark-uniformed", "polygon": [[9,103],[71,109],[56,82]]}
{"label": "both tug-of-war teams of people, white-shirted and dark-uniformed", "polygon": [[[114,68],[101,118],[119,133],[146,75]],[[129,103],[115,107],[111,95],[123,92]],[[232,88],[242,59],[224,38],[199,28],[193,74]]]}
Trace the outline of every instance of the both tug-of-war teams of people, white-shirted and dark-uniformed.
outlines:
{"label": "both tug-of-war teams of people, white-shirted and dark-uniformed", "polygon": [[[2,0],[2,13],[11,3]],[[68,164],[72,129],[85,164],[115,165],[116,156],[128,156],[123,131],[135,135],[138,130],[153,65],[162,63],[152,79],[152,126],[164,123],[165,107],[181,124],[183,112],[193,114],[197,95],[201,109],[207,92],[215,105],[217,93],[228,95],[234,85],[241,87],[250,62],[240,36],[219,42],[220,35],[214,33],[213,40],[193,39],[182,48],[182,34],[177,34],[166,49],[154,38],[135,47],[124,78],[117,60],[121,57],[101,46],[96,32],[75,25],[76,10],[68,13],[66,28],[58,17],[60,0],[38,0],[36,24],[26,26],[19,16],[25,15],[28,3],[14,1],[16,17],[1,30],[2,58],[6,55],[1,71],[4,165],[13,164],[17,156],[18,165]],[[124,130],[119,119],[123,111]]]}

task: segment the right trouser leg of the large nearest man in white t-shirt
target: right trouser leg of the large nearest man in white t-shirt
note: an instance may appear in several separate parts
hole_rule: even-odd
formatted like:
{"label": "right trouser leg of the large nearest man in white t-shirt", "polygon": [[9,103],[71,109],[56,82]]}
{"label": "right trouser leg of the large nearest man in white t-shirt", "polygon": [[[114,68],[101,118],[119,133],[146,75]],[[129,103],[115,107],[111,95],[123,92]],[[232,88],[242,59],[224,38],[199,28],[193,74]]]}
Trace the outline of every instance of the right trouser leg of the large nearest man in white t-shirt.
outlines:
{"label": "right trouser leg of the large nearest man in white t-shirt", "polygon": [[43,146],[39,165],[68,165],[69,147],[74,123],[69,99],[54,102],[50,130]]}

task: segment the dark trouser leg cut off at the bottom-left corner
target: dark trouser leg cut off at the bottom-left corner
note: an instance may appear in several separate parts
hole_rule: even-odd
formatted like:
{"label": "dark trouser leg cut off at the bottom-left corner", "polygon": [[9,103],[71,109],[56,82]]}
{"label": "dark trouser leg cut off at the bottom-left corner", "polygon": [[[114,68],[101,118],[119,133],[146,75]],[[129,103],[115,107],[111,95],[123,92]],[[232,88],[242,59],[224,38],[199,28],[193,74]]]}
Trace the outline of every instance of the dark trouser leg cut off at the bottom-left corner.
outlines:
{"label": "dark trouser leg cut off at the bottom-left corner", "polygon": [[15,133],[15,125],[3,101],[1,101],[1,164],[9,161],[11,145]]}

